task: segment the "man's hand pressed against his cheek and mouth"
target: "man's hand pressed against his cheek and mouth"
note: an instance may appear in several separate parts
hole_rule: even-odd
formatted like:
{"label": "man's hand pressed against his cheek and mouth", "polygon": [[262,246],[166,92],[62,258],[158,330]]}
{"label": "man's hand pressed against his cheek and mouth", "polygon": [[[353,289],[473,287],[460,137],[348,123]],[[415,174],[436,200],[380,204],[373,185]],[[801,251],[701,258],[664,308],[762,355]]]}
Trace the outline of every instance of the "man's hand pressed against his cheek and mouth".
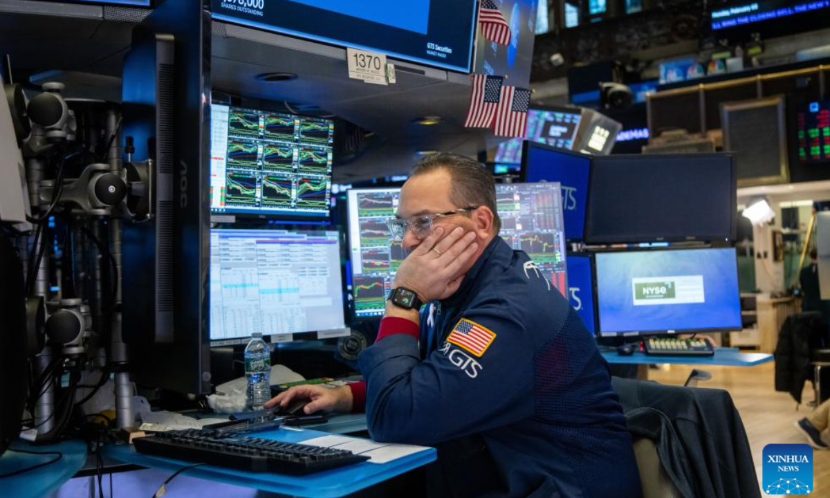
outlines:
{"label": "man's hand pressed against his cheek and mouth", "polygon": [[446,299],[461,286],[461,270],[477,248],[476,232],[455,227],[445,236],[444,227],[436,227],[403,260],[393,287],[406,287],[423,302]]}

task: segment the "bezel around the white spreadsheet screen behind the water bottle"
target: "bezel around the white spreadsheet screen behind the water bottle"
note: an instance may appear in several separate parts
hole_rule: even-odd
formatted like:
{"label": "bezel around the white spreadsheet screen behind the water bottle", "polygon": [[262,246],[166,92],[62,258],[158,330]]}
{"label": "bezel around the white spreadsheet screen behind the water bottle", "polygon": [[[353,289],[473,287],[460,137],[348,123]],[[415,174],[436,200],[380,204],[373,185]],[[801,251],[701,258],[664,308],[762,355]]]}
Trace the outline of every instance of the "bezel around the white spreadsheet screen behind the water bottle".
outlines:
{"label": "bezel around the white spreadsheet screen behind the water bottle", "polygon": [[[343,324],[344,329],[349,330],[351,328],[351,317],[349,315],[349,303],[346,297],[345,291],[345,283],[346,283],[346,276],[345,276],[345,264],[344,264],[344,232],[342,230],[337,230],[333,226],[320,226],[320,225],[303,225],[303,224],[286,224],[286,223],[275,223],[275,222],[266,222],[266,223],[256,223],[256,222],[247,222],[247,223],[212,223],[210,231],[213,230],[231,230],[231,231],[256,231],[256,230],[281,230],[286,232],[338,232],[339,237],[337,239],[338,244],[338,252],[340,256],[340,300],[343,303]],[[210,279],[210,271],[208,269],[208,281]],[[208,287],[209,288],[209,287]],[[210,296],[208,295],[208,302],[207,302],[208,309],[210,308]],[[250,336],[247,337],[239,337],[233,339],[212,339],[210,334],[211,328],[211,321],[210,318],[207,320],[207,339],[210,343],[210,347],[217,348],[223,346],[233,346],[238,344],[247,344],[249,340],[251,340]],[[336,330],[336,329],[333,329]],[[281,342],[296,342],[298,340],[317,340],[320,339],[317,334],[320,332],[326,332],[327,330],[306,330],[304,332],[293,332],[291,333],[292,338],[291,341],[279,341],[275,342],[272,338],[275,335],[281,334],[262,334],[262,337],[266,339],[268,342],[272,344],[281,344]],[[326,338],[324,338],[326,339]],[[323,339],[320,339],[323,340]]]}

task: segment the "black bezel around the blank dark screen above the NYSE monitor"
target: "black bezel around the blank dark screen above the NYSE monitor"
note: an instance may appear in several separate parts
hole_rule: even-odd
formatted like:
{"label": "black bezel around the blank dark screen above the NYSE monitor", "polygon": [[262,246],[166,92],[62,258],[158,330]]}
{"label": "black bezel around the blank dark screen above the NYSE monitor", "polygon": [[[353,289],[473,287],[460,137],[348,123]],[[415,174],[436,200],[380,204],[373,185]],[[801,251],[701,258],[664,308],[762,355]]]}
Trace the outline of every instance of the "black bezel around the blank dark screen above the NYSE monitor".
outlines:
{"label": "black bezel around the blank dark screen above the NYSE monitor", "polygon": [[[585,209],[585,233],[584,233],[584,241],[587,244],[623,244],[623,243],[638,243],[638,242],[734,242],[735,237],[737,237],[737,217],[738,217],[738,186],[737,186],[737,170],[735,169],[735,155],[725,152],[714,152],[714,153],[701,153],[701,154],[611,154],[611,155],[604,155],[604,156],[592,156],[591,162],[591,175],[589,178],[588,183],[588,205]],[[591,214],[593,211],[593,203],[591,199],[593,199],[594,193],[593,190],[593,182],[596,178],[594,174],[597,169],[597,162],[603,163],[606,161],[614,162],[614,161],[621,161],[621,160],[630,160],[633,158],[639,158],[645,161],[670,161],[671,159],[689,159],[689,158],[697,158],[697,159],[706,159],[706,158],[728,158],[730,161],[730,168],[731,174],[730,177],[732,179],[732,186],[730,188],[730,205],[734,207],[732,210],[732,217],[730,217],[730,235],[729,237],[723,237],[722,235],[712,235],[712,234],[693,234],[693,235],[686,235],[686,236],[677,236],[677,237],[645,237],[645,238],[637,238],[633,239],[631,237],[626,236],[618,236],[618,237],[592,237],[591,235]]]}

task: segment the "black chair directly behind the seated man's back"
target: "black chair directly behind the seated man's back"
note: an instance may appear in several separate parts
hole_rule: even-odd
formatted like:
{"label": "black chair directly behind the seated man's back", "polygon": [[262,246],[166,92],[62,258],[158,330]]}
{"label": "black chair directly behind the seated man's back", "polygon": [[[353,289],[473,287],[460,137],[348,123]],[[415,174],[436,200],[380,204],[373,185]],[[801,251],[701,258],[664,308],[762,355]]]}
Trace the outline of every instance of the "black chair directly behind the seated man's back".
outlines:
{"label": "black chair directly behind the seated man's back", "polygon": [[759,497],[744,424],[729,393],[612,378],[643,496]]}

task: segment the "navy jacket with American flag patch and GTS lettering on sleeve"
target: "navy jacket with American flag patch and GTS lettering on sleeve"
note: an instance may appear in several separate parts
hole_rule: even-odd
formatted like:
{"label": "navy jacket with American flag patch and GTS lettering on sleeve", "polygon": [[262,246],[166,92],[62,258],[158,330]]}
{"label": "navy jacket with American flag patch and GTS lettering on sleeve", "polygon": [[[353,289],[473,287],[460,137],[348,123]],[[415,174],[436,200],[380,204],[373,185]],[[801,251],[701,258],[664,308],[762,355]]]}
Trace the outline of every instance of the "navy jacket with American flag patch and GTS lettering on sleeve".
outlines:
{"label": "navy jacket with American flag patch and GTS lettering on sleeve", "polygon": [[[465,341],[462,323],[485,332]],[[431,495],[641,496],[608,364],[569,301],[500,237],[455,295],[425,306],[420,340],[386,336],[359,364],[372,437],[438,448]]]}

